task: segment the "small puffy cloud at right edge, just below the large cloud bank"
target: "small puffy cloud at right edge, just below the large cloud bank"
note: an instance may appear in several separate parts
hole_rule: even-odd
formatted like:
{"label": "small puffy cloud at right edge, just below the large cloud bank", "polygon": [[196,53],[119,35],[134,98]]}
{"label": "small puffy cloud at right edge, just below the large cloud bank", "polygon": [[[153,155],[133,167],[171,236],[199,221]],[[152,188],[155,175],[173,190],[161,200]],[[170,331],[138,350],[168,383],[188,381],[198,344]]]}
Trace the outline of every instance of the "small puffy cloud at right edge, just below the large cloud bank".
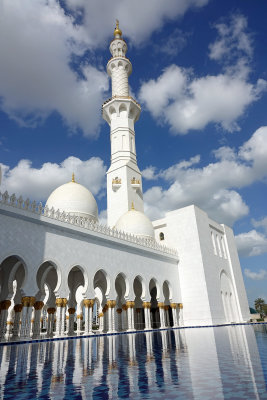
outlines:
{"label": "small puffy cloud at right edge, just below the large cloud bank", "polygon": [[238,252],[243,257],[259,256],[267,252],[267,237],[255,229],[235,237]]}

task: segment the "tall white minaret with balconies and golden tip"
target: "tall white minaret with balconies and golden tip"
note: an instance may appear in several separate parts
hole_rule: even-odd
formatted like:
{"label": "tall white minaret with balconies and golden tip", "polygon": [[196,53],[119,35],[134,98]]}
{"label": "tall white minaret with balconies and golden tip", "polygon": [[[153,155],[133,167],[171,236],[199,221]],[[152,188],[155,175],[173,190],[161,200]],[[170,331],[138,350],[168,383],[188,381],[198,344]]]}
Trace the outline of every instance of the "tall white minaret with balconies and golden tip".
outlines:
{"label": "tall white minaret with balconies and golden tip", "polygon": [[134,204],[144,212],[142,177],[137,166],[134,123],[141,107],[129,96],[128,77],[132,64],[126,58],[127,44],[122,38],[119,22],[110,43],[111,59],[107,72],[112,81],[112,98],[102,107],[103,118],[110,126],[111,165],[107,172],[108,225],[113,227],[121,215]]}

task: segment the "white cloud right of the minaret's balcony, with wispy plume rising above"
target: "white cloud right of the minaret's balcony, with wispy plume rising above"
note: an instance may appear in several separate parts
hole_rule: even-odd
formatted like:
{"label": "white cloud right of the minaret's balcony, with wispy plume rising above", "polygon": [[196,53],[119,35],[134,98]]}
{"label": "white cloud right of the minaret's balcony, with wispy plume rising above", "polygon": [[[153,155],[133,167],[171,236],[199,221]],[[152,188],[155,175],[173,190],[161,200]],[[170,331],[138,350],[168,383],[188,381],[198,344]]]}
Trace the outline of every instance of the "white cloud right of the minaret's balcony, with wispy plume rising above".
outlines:
{"label": "white cloud right of the minaret's balcony, with wispy plume rising above", "polygon": [[242,15],[215,25],[219,37],[209,46],[210,58],[222,62],[218,75],[198,77],[191,69],[170,65],[157,79],[143,82],[139,98],[159,124],[175,134],[214,123],[229,132],[240,130],[238,119],[267,89],[267,82],[249,81],[252,38]]}

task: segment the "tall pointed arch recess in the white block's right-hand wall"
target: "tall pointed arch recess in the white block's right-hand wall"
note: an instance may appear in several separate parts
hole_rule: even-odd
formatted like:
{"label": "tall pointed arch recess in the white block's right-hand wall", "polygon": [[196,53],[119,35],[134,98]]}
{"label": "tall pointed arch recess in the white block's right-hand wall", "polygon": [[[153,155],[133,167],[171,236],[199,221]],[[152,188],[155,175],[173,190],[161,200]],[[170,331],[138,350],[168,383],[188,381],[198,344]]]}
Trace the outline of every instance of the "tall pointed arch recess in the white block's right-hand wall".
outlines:
{"label": "tall pointed arch recess in the white block's right-hand wall", "polygon": [[224,270],[221,271],[220,282],[225,320],[226,322],[236,322],[239,318],[233,284]]}

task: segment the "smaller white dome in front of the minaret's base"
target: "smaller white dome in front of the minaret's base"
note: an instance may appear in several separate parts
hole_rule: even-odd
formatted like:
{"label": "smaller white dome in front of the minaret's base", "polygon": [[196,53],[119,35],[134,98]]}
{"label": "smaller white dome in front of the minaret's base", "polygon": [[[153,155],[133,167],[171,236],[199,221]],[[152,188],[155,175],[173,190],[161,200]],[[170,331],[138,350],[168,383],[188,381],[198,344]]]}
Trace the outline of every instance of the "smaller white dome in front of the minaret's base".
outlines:
{"label": "smaller white dome in front of the minaret's base", "polygon": [[115,228],[136,236],[154,239],[154,228],[151,221],[144,213],[134,209],[123,214],[117,221]]}

